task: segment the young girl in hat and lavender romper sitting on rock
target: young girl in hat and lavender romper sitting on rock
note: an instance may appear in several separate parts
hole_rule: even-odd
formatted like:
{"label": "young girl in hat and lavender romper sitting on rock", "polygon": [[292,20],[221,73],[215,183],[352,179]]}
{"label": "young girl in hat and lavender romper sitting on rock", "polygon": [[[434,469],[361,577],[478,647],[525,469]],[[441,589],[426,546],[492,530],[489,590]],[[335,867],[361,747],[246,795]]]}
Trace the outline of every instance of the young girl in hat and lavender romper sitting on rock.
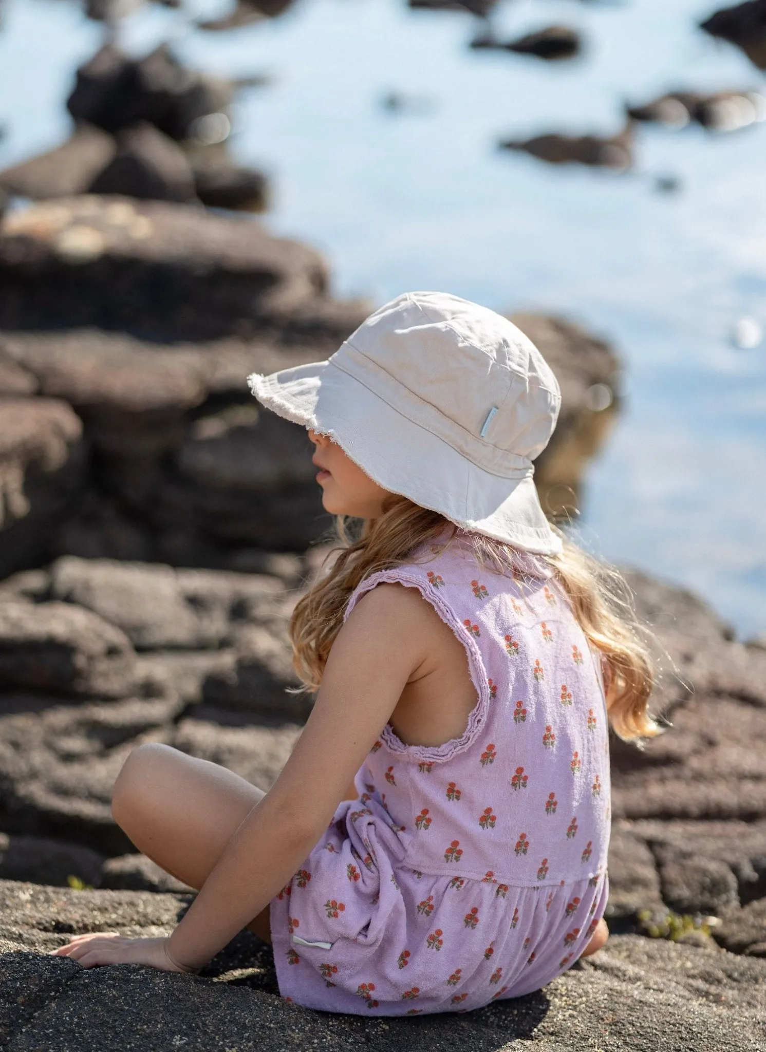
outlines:
{"label": "young girl in hat and lavender romper sitting on rock", "polygon": [[537,990],[607,937],[607,713],[623,737],[656,733],[644,649],[538,502],[556,379],[501,316],[418,292],[328,361],[249,381],[308,429],[341,517],[290,624],[316,705],[267,793],[136,749],[115,818],[200,892],[167,938],[56,953],[197,971],[247,926],[309,1008],[466,1011]]}

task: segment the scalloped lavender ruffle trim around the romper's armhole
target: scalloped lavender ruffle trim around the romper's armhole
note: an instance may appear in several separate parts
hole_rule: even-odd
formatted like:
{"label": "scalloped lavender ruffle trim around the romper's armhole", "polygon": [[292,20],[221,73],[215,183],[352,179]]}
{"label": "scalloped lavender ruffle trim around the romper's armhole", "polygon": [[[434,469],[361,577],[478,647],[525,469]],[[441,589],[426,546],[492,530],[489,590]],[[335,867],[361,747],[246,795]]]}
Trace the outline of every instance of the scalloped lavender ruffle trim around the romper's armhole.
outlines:
{"label": "scalloped lavender ruffle trim around the romper's armhole", "polygon": [[402,570],[396,568],[392,570],[379,570],[377,573],[372,573],[370,576],[365,578],[365,580],[357,586],[346,605],[346,609],[343,614],[344,624],[358,600],[360,600],[365,592],[375,588],[376,585],[379,584],[401,584],[407,588],[417,588],[420,591],[426,603],[429,603],[430,606],[434,607],[444,624],[452,630],[458,642],[463,644],[468,659],[468,671],[471,683],[476,687],[477,693],[479,694],[479,701],[468,714],[468,723],[466,724],[463,734],[460,737],[451,739],[449,742],[444,742],[443,745],[407,745],[397,735],[390,724],[385,725],[380,737],[386,748],[388,748],[391,752],[405,756],[415,763],[442,763],[446,760],[451,760],[452,756],[457,756],[459,753],[465,752],[465,750],[473,743],[473,740],[477,737],[486,721],[487,709],[489,708],[489,684],[487,682],[487,673],[484,667],[481,651],[479,650],[473,638],[465,633],[463,626],[458,621],[455,612],[429,588],[427,582],[425,582],[422,578],[403,572]]}

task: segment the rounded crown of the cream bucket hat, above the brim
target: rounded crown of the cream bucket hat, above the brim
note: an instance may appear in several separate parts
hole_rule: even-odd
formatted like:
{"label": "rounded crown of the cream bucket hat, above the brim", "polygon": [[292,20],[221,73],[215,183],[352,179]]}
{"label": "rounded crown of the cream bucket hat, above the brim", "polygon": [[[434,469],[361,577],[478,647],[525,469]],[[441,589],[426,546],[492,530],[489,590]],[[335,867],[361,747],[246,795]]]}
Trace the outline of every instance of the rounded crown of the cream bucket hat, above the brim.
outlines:
{"label": "rounded crown of the cream bucket hat, above the brim", "polygon": [[488,469],[504,453],[517,467],[533,460],[561,404],[556,377],[521,329],[446,292],[405,292],[384,304],[330,362],[385,392],[403,416],[451,428],[455,444]]}

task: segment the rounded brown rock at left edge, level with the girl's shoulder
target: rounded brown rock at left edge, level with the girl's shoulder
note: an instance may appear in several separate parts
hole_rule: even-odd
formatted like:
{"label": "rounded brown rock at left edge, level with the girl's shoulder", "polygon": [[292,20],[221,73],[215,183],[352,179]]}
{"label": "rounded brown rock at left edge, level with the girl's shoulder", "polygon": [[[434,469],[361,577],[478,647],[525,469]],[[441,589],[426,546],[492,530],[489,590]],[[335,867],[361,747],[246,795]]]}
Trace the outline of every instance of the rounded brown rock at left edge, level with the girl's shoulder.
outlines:
{"label": "rounded brown rock at left edge, level with the girl's shoulder", "polygon": [[135,685],[127,636],[66,603],[0,606],[0,682],[5,689],[125,697]]}

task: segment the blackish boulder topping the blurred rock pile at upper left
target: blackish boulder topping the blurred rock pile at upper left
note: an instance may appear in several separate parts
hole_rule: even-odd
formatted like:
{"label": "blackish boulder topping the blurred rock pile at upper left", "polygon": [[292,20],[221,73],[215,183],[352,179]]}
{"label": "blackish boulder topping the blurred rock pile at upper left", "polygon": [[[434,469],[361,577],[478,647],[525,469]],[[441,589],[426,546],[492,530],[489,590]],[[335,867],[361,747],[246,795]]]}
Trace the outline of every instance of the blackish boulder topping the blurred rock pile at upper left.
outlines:
{"label": "blackish boulder topping the blurred rock pile at upper left", "polygon": [[164,45],[130,59],[106,44],[77,70],[66,105],[78,121],[119,132],[147,121],[172,139],[186,139],[195,120],[221,110],[230,88],[185,69]]}

